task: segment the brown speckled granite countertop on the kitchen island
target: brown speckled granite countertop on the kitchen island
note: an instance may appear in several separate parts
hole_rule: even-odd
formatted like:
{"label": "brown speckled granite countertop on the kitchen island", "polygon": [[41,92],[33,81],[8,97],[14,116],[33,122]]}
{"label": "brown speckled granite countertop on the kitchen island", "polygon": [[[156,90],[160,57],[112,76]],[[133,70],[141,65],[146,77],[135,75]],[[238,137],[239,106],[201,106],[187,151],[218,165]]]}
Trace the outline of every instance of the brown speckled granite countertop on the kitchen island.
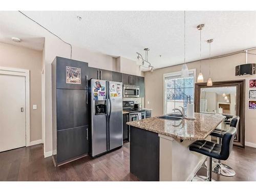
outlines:
{"label": "brown speckled granite countertop on the kitchen island", "polygon": [[126,124],[182,140],[204,140],[226,118],[223,115],[195,113],[195,120],[178,121],[151,117]]}

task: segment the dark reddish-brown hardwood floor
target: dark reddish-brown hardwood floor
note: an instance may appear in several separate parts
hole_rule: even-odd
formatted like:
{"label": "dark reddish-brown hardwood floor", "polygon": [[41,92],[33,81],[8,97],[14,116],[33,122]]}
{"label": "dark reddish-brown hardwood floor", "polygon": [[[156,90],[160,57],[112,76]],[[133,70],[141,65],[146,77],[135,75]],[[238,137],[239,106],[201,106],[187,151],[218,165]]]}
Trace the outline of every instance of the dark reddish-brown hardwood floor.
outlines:
{"label": "dark reddish-brown hardwood floor", "polygon": [[[89,156],[54,167],[51,157],[44,158],[43,145],[17,148],[0,153],[0,181],[137,181],[130,173],[129,143],[98,158]],[[212,173],[217,181],[256,181],[256,148],[233,147],[227,161],[236,176]]]}

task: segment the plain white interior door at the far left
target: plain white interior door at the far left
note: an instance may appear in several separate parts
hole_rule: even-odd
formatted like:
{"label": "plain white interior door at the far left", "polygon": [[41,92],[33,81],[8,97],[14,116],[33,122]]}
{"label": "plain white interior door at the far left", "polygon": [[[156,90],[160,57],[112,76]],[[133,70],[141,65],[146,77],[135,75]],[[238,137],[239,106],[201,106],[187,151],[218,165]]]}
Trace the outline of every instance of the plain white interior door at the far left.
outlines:
{"label": "plain white interior door at the far left", "polygon": [[0,152],[26,146],[25,110],[25,77],[0,74]]}

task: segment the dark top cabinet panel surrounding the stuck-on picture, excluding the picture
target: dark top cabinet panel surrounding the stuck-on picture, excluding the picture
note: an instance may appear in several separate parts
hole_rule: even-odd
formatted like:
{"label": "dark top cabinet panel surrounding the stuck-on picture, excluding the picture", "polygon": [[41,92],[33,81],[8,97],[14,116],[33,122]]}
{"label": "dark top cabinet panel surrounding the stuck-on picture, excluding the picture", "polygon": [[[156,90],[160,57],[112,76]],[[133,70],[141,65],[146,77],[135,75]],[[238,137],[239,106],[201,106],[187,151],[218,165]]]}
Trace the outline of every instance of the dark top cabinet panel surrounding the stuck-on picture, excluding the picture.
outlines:
{"label": "dark top cabinet panel surrounding the stuck-on picture, excluding the picture", "polygon": [[[57,89],[89,89],[88,84],[88,63],[68,58],[56,57],[56,88]],[[81,69],[81,83],[66,82],[66,67]],[[69,74],[68,74],[69,75]]]}

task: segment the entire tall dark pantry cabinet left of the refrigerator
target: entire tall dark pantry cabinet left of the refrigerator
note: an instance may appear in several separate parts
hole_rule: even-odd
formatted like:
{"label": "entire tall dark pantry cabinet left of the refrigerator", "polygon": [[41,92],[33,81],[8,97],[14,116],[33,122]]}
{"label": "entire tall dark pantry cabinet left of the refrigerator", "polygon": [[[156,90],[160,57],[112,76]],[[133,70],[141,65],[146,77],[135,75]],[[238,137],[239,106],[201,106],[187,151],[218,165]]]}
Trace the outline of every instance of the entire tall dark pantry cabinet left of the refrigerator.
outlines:
{"label": "entire tall dark pantry cabinet left of the refrigerator", "polygon": [[52,62],[53,159],[55,165],[88,154],[88,63],[56,57]]}

